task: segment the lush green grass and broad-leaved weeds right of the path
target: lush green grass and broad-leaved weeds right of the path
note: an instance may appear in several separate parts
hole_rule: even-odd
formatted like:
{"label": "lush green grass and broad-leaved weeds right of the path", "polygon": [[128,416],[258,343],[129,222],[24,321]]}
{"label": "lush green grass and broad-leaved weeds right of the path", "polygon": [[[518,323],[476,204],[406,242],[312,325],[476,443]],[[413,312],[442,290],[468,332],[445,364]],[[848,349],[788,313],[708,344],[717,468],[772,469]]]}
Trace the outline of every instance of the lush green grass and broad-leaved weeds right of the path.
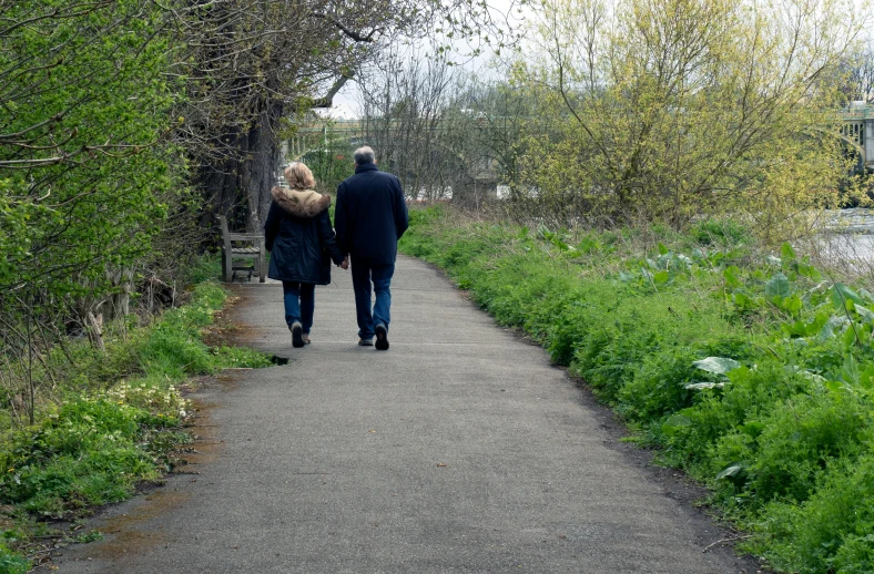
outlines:
{"label": "lush green grass and broad-leaved weeds right of the path", "polygon": [[745,551],[783,572],[874,572],[874,295],[732,222],[571,235],[441,208],[410,219],[402,250],[707,484]]}

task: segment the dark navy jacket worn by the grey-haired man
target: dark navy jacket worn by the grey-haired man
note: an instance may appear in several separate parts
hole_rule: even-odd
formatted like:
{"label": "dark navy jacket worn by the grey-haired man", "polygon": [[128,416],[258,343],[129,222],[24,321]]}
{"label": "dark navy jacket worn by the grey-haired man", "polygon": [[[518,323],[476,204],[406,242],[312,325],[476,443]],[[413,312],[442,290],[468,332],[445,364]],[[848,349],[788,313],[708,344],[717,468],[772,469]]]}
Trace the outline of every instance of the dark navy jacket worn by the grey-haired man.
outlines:
{"label": "dark navy jacket worn by the grey-haired man", "polygon": [[394,264],[397,240],[408,226],[400,182],[376,164],[357,166],[337,187],[334,227],[344,255],[373,266]]}

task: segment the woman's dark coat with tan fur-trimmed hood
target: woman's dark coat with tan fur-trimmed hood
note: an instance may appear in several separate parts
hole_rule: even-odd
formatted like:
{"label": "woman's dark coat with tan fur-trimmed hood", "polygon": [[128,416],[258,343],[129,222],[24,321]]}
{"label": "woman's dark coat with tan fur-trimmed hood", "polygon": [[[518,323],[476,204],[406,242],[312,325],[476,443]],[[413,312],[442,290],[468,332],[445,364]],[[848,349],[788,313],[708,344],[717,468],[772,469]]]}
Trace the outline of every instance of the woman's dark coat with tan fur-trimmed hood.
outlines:
{"label": "woman's dark coat with tan fur-trimmed hood", "polygon": [[264,224],[271,264],[267,276],[282,281],[331,283],[331,259],[343,262],[331,226],[331,196],[312,189],[273,188]]}

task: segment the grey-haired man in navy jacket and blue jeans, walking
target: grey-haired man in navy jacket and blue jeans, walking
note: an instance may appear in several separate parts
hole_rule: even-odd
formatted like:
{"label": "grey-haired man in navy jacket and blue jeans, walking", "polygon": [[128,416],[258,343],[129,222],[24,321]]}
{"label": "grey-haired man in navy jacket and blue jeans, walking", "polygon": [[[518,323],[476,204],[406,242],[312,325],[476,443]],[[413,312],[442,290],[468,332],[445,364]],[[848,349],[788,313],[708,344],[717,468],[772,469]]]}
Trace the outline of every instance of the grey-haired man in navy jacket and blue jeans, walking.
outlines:
{"label": "grey-haired man in navy jacket and blue jeans, walking", "polygon": [[[358,315],[358,345],[388,349],[388,324],[392,306],[392,276],[395,274],[397,240],[409,225],[407,204],[400,182],[376,167],[374,151],[359,147],[353,154],[355,175],[337,187],[334,226],[337,245],[352,256],[352,286]],[[370,308],[370,284],[376,303]]]}

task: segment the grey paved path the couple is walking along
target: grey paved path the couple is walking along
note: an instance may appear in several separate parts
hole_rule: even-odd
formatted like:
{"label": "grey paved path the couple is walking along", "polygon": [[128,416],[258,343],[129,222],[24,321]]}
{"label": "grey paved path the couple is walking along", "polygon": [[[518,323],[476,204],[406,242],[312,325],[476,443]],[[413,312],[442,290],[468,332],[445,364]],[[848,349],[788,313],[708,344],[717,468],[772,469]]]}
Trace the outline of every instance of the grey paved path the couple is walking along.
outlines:
{"label": "grey paved path the couple is walking along", "polygon": [[304,349],[278,285],[236,288],[241,342],[292,361],[201,392],[197,473],[109,509],[60,572],[750,572],[702,552],[724,534],[437,271],[398,262],[388,352],[354,345],[334,278]]}

